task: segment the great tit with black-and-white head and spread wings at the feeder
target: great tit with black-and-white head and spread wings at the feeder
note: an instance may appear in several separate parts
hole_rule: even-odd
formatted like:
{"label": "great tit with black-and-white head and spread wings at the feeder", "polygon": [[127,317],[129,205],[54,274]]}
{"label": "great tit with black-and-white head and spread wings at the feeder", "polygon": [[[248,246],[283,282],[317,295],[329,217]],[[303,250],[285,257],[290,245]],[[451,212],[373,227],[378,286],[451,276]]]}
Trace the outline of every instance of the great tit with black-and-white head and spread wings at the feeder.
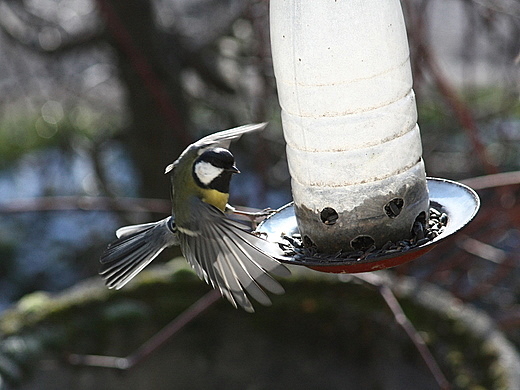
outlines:
{"label": "great tit with black-and-white head and spread wings at the feeder", "polygon": [[253,312],[246,292],[263,305],[263,289],[283,294],[271,277],[288,276],[280,248],[228,218],[229,183],[238,173],[227,149],[242,134],[265,128],[250,124],[208,135],[188,146],[166,168],[171,175],[172,216],[158,222],[125,226],[101,256],[100,274],[109,288],[120,289],[163,249],[180,245],[197,275],[218,288],[233,306]]}

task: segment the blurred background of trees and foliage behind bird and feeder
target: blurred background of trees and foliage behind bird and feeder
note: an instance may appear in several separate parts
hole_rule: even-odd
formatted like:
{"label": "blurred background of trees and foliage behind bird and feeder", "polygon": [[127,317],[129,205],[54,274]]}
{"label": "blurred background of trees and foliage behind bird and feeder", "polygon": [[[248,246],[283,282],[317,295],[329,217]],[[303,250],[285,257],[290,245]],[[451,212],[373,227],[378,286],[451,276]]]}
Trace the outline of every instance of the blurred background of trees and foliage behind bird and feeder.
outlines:
{"label": "blurred background of trees and foliage behind bird and feeder", "polygon": [[[520,343],[520,5],[402,5],[427,172],[483,177],[468,181],[483,207],[394,273],[486,309]],[[290,201],[268,1],[2,0],[0,51],[0,309],[95,275],[117,227],[168,213],[164,167],[210,132],[269,121],[233,149],[231,200]]]}

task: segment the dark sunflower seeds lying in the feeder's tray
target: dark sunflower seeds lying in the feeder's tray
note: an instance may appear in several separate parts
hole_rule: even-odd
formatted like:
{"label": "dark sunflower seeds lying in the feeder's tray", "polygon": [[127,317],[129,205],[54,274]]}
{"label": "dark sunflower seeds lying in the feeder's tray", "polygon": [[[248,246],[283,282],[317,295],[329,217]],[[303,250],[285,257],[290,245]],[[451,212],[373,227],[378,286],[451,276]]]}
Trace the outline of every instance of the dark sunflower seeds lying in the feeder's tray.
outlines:
{"label": "dark sunflower seeds lying in the feeder's tray", "polygon": [[412,228],[412,237],[398,242],[388,241],[381,248],[376,248],[372,245],[370,248],[359,251],[339,251],[337,253],[320,253],[315,246],[305,246],[300,234],[293,234],[292,236],[284,236],[284,241],[280,243],[281,249],[286,256],[294,258],[301,262],[305,260],[323,261],[324,263],[342,262],[345,261],[361,261],[376,259],[378,257],[387,256],[399,252],[406,252],[410,249],[424,245],[429,241],[435,239],[440,235],[446,224],[448,223],[448,216],[442,211],[436,210],[433,207],[429,209],[428,223],[425,221],[415,221]]}

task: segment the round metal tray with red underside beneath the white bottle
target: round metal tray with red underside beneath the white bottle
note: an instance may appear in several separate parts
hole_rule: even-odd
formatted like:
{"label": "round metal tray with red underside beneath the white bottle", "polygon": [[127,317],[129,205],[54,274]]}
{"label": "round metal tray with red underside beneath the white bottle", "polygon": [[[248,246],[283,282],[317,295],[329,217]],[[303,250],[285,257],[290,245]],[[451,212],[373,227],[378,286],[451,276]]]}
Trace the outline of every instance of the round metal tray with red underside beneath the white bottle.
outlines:
{"label": "round metal tray with red underside beneath the white bottle", "polygon": [[[303,265],[321,272],[358,273],[395,267],[407,263],[432,250],[440,241],[464,228],[477,214],[480,207],[478,195],[471,188],[446,179],[427,178],[430,208],[448,216],[446,226],[440,234],[422,245],[394,253],[381,253],[369,258],[345,259],[311,256],[294,256],[281,259],[286,264]],[[299,233],[292,202],[262,221],[256,232],[268,241],[281,242],[283,236]]]}

